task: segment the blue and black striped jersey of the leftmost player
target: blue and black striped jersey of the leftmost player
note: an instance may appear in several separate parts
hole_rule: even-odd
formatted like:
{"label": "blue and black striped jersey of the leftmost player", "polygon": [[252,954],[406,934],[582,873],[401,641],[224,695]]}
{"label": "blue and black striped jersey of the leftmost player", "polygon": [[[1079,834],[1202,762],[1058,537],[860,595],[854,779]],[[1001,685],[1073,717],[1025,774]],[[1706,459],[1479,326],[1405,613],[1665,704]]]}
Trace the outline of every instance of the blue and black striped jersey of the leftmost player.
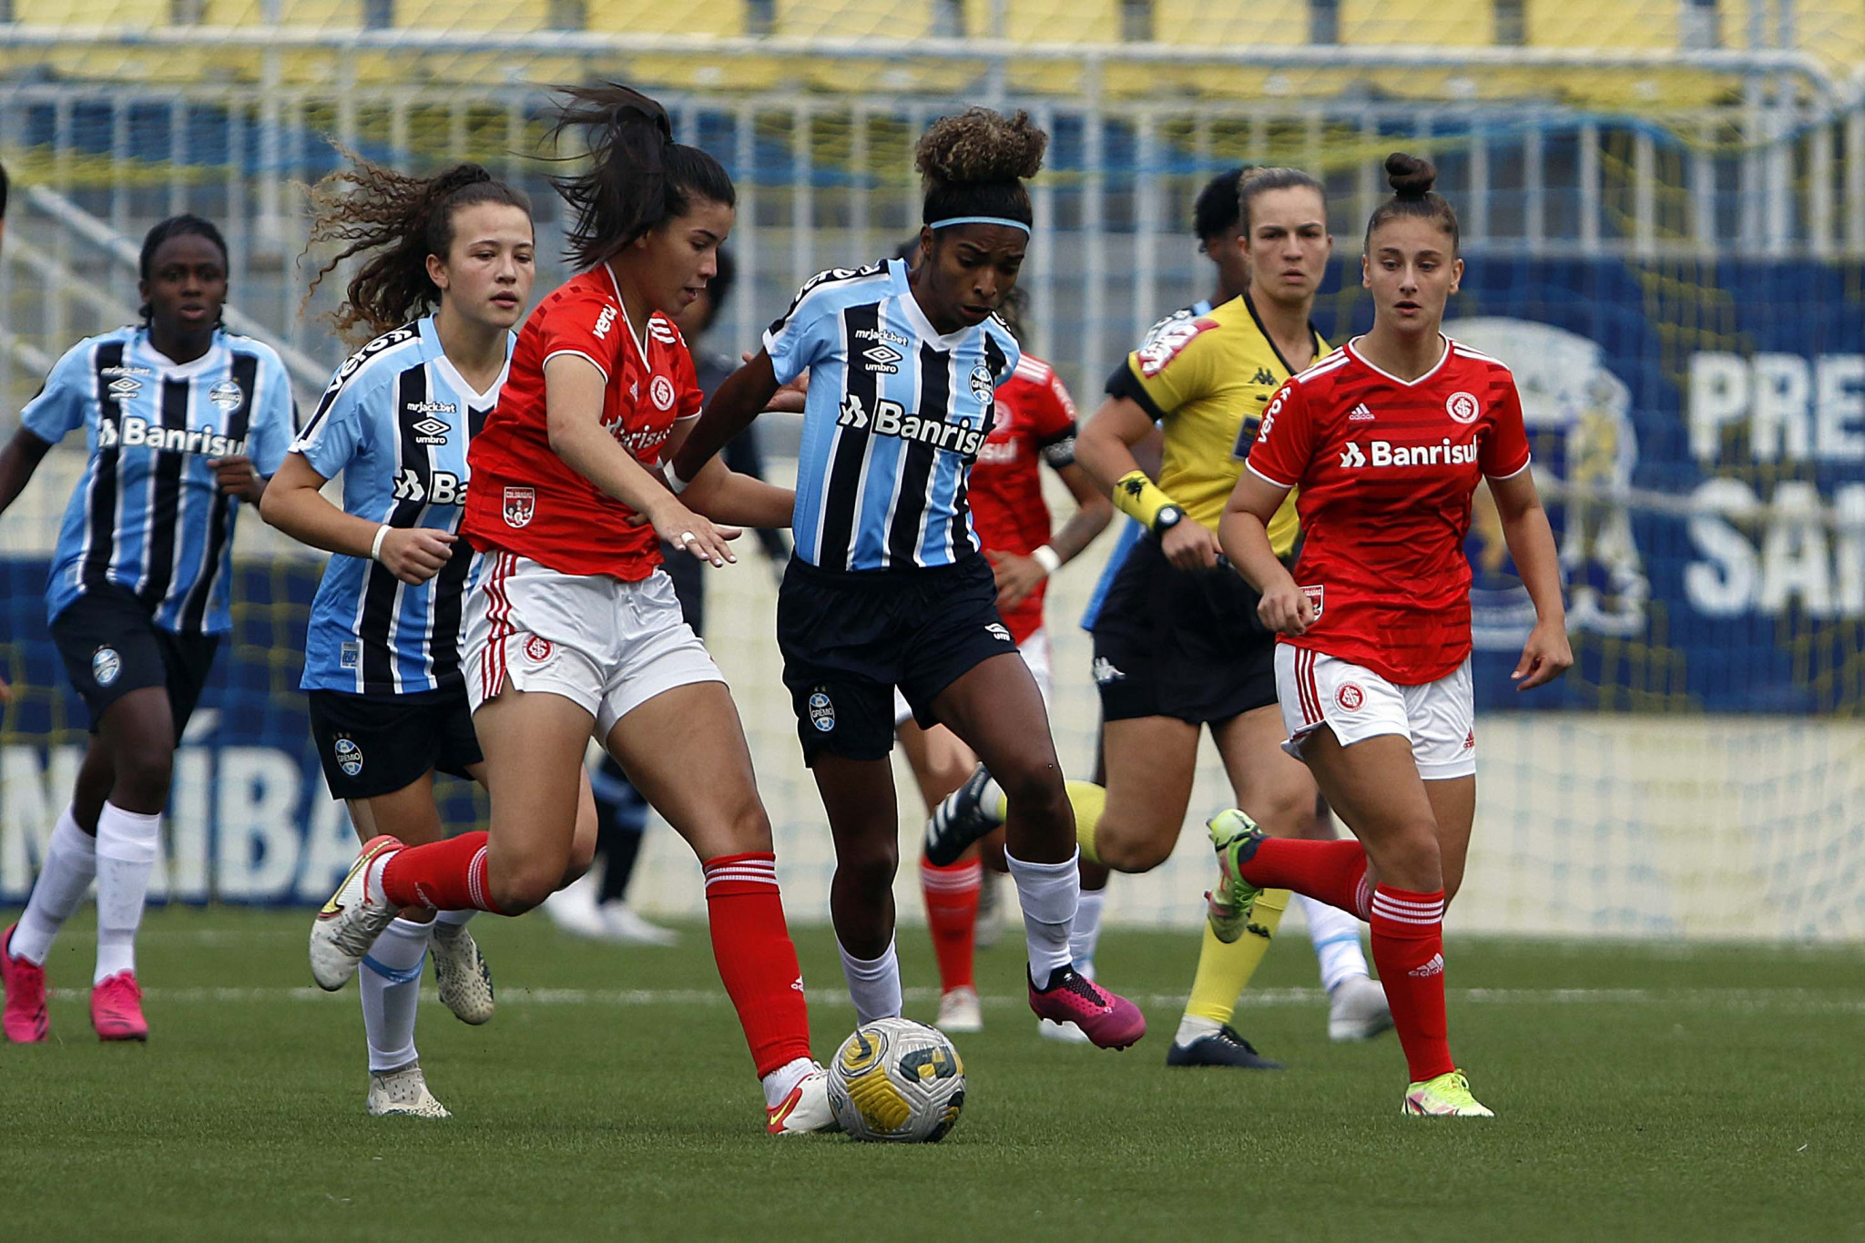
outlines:
{"label": "blue and black striped jersey of the leftmost player", "polygon": [[252,337],[218,330],[190,363],[157,352],[140,324],[71,347],[19,416],[47,444],[82,427],[90,453],[58,531],[47,617],[116,583],[164,630],[231,630],[241,501],[220,492],[207,462],[244,453],[270,475],[293,417],[285,363]]}

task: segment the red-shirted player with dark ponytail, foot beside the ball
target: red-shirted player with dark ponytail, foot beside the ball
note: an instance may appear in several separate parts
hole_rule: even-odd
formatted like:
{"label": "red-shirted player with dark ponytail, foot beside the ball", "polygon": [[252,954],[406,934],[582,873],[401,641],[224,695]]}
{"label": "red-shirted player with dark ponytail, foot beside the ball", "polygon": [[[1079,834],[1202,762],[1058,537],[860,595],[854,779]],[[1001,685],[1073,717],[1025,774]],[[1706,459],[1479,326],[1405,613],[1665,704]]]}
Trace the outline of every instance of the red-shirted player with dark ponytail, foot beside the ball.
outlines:
{"label": "red-shirted player with dark ponytail, foot beside the ball", "polygon": [[517,915],[571,861],[591,732],[699,855],[712,954],[739,1010],[772,1133],[828,1129],[809,1057],[796,949],[778,895],[770,820],[731,693],[681,619],[658,540],[733,559],[698,511],[783,526],[793,494],[662,455],[699,414],[671,315],[705,289],[737,194],[666,110],[623,86],[565,91],[558,130],[589,136],[589,170],[560,179],[582,276],[518,332],[498,408],[472,442],[461,531],[485,553],[466,604],[466,690],[485,751],[490,831],[403,846],[377,837],[311,930],[311,971],[341,988],[397,908]]}

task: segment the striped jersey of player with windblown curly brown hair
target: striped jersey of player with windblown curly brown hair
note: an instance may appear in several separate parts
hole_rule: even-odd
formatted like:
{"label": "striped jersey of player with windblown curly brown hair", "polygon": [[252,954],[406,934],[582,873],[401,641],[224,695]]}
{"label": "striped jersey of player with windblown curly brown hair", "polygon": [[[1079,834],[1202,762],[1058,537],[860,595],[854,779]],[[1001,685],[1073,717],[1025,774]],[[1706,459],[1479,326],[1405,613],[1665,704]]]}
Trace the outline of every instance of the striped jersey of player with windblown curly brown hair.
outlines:
{"label": "striped jersey of player with windblown curly brown hair", "polygon": [[[490,389],[474,391],[440,348],[429,315],[351,354],[291,451],[325,479],[343,473],[343,512],[457,535],[466,449],[504,382],[502,371]],[[464,539],[420,585],[367,557],[330,557],[311,600],[300,686],[367,695],[463,686],[461,609],[472,567]]]}

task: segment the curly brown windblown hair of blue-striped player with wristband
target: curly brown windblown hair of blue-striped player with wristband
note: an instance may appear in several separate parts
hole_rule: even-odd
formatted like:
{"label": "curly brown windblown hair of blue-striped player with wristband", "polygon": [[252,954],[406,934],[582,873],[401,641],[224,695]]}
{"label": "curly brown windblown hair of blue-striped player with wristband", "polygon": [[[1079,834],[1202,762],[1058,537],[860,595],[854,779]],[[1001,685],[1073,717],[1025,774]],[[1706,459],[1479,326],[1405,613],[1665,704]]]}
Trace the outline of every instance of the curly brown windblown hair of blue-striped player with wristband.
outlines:
{"label": "curly brown windblown hair of blue-striped player with wristband", "polygon": [[330,315],[338,335],[356,345],[399,328],[440,304],[440,289],[427,276],[427,255],[446,257],[453,248],[453,216],[479,203],[502,203],[532,214],[532,201],[477,164],[455,164],[433,177],[410,177],[375,164],[349,147],[332,143],[349,160],[308,190],[311,199],[311,246],[343,248],[311,276],[304,300],[345,259],[379,252],[362,265]]}

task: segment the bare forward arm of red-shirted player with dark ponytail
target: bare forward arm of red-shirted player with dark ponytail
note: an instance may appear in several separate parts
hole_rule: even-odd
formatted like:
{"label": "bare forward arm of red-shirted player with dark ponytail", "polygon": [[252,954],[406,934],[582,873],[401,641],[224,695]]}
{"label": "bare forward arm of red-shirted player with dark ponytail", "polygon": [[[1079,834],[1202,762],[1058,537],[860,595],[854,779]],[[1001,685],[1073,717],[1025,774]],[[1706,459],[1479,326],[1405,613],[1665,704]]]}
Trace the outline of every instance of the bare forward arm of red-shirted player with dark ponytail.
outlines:
{"label": "bare forward arm of red-shirted player with dark ponytail", "polygon": [[647,514],[655,535],[675,548],[712,565],[737,561],[725,540],[737,539],[740,531],[714,527],[711,520],[686,509],[658,475],[636,462],[602,427],[606,386],[608,378],[580,354],[558,354],[545,363],[545,430],[550,451],[602,492]]}

